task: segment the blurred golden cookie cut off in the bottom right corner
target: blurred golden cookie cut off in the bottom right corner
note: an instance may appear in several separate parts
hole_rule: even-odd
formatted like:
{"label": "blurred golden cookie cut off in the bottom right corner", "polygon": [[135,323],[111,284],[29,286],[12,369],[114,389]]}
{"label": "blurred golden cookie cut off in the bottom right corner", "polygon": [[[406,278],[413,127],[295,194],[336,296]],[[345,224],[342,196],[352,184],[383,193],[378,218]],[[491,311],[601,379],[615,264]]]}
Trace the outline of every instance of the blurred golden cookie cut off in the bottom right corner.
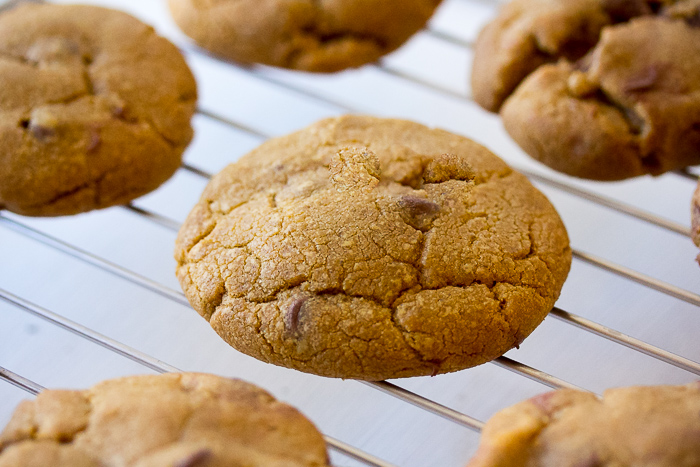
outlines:
{"label": "blurred golden cookie cut off in the bottom right corner", "polygon": [[494,415],[468,467],[700,465],[700,384],[564,389]]}

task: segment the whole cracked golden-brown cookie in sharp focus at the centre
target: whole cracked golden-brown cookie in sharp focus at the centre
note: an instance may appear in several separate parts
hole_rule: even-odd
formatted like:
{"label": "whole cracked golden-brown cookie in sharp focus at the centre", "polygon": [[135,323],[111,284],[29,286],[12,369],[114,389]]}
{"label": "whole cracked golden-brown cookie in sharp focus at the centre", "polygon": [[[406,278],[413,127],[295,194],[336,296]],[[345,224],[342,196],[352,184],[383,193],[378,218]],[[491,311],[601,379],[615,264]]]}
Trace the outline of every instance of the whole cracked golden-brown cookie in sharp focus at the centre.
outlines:
{"label": "whole cracked golden-brown cookie in sharp focus at the centre", "polygon": [[175,257],[190,303],[234,348],[382,380],[518,346],[557,299],[571,251],[549,201],[482,146],[345,116],[216,175]]}

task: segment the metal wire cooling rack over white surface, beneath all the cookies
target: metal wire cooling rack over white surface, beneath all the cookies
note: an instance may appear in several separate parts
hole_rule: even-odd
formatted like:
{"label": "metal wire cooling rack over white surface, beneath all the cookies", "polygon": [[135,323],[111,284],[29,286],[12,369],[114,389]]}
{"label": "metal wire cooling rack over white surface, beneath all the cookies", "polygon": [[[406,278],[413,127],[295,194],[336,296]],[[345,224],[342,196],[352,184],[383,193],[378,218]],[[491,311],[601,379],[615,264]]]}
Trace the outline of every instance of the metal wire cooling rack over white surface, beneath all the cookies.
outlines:
{"label": "metal wire cooling rack over white surface, beneath all the cookies", "polygon": [[[495,0],[445,0],[428,27],[379,63],[330,76],[208,56],[164,0],[100,0],[154,25],[199,84],[182,168],[132,205],[67,218],[0,212],[0,425],[42,387],[177,370],[256,383],[306,413],[334,465],[459,466],[482,421],[550,388],[595,393],[700,375],[700,286],[689,239],[692,171],[617,183],[531,161],[470,99],[471,46]],[[266,138],[342,113],[408,118],[466,135],[526,173],[556,206],[574,262],[561,298],[491,364],[434,378],[362,383],[258,362],[223,343],[174,278],[176,231],[211,173]],[[1,170],[1,168],[0,168]]]}

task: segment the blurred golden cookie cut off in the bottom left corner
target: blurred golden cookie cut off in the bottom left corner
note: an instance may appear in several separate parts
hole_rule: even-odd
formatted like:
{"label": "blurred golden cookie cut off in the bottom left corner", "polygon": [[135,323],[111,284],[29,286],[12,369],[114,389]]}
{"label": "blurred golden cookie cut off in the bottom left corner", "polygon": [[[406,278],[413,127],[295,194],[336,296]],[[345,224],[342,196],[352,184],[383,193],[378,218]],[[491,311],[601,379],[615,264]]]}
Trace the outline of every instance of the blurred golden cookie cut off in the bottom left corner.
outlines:
{"label": "blurred golden cookie cut off in the bottom left corner", "polygon": [[322,435],[240,380],[182,373],[49,390],[0,434],[0,467],[323,467]]}

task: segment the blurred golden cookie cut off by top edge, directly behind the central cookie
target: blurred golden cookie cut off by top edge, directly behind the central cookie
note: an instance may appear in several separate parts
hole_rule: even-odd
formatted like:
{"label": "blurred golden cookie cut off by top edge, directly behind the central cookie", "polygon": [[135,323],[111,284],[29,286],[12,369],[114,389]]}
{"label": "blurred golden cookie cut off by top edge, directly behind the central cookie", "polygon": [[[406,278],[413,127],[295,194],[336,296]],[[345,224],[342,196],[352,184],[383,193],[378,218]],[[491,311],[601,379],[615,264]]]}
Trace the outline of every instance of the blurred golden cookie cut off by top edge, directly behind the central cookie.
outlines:
{"label": "blurred golden cookie cut off by top edge, directly behind the central cookie", "polygon": [[242,63],[333,72],[377,60],[430,19],[440,0],[169,0],[201,47]]}

